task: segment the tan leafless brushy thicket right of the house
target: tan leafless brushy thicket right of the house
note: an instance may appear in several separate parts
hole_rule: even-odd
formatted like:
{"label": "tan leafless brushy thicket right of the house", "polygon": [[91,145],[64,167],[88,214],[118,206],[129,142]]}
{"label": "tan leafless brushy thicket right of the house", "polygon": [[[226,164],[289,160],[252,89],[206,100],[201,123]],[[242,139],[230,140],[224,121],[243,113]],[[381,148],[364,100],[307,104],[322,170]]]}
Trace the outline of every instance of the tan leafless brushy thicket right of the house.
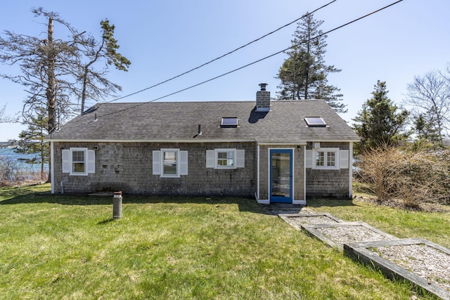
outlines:
{"label": "tan leafless brushy thicket right of the house", "polygon": [[360,180],[368,183],[379,202],[401,200],[406,207],[450,204],[450,150],[379,148],[362,154],[357,167]]}

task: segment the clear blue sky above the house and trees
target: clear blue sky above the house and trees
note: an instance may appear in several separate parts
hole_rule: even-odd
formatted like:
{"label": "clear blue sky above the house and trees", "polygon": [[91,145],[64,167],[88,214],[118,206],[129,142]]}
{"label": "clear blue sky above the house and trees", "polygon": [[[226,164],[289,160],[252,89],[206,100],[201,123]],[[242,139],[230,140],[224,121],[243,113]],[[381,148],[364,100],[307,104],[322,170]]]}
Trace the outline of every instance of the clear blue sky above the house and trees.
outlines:
{"label": "clear blue sky above the house and trees", "polygon": [[[112,69],[108,78],[122,86],[122,93],[117,96],[127,96],[243,46],[330,1],[113,2],[4,1],[0,11],[1,34],[10,30],[44,39],[46,20],[34,18],[30,12],[37,6],[59,13],[79,32],[86,30],[98,38],[100,21],[108,18],[116,27],[120,53],[131,60],[129,72]],[[316,12],[314,18],[325,21],[321,29],[327,32],[393,2],[337,0]],[[404,0],[328,34],[326,63],[342,69],[328,79],[344,94],[349,112],[342,117],[349,124],[364,101],[371,98],[378,79],[387,82],[388,96],[400,103],[406,84],[414,76],[442,70],[450,63],[449,11],[448,0]],[[120,102],[154,100],[270,56],[290,46],[295,28],[295,24],[285,27],[226,58]],[[57,25],[55,34],[67,36]],[[269,84],[267,89],[276,96],[279,81],[274,77],[285,58],[284,53],[278,54],[160,101],[254,100],[261,82]],[[16,72],[13,67],[0,65],[0,73]],[[22,86],[0,79],[0,107],[6,104],[7,115],[20,112],[25,96]],[[17,138],[25,128],[19,124],[0,124],[0,141]]]}

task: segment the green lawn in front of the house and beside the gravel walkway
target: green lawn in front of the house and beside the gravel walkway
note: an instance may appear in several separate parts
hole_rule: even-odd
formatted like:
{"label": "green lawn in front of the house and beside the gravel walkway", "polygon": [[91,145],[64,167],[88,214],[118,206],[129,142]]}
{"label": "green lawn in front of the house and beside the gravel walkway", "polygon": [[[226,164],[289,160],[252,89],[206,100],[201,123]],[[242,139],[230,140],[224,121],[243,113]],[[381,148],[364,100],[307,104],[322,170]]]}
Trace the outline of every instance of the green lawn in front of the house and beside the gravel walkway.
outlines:
{"label": "green lawn in front of the house and beside the gravel walkway", "polygon": [[[48,190],[49,185],[0,188],[0,299],[414,295],[411,286],[387,280],[265,214],[252,199],[124,196],[122,219],[113,220],[112,197],[35,195]],[[352,202],[326,206],[327,201],[314,202],[314,209],[329,209],[349,221],[379,218],[372,225],[389,227],[384,208]],[[448,216],[439,218],[449,223]],[[399,219],[399,231],[414,230],[413,221]],[[440,228],[433,228],[427,237],[439,240]]]}

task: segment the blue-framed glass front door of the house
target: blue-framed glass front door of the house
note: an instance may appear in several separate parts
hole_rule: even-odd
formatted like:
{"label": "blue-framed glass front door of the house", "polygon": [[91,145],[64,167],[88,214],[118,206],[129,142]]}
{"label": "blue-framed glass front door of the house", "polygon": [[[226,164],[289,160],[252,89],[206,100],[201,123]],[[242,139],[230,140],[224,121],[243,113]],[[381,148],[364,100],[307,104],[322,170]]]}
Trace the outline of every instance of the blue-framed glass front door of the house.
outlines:
{"label": "blue-framed glass front door of the house", "polygon": [[293,202],[293,150],[270,150],[270,202]]}

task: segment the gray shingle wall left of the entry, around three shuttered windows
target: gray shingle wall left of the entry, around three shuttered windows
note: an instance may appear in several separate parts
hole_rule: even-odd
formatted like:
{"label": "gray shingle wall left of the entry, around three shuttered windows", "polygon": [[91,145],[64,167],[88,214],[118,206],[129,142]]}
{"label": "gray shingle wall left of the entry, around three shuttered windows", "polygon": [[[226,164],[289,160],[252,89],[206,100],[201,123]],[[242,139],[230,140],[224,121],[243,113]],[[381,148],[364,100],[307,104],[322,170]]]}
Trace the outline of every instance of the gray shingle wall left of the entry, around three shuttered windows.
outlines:
{"label": "gray shingle wall left of the entry, around three shuttered windows", "polygon": [[[54,164],[55,193],[95,193],[122,190],[135,195],[232,195],[255,194],[255,143],[54,143],[55,162],[61,161],[63,149],[96,150],[96,172],[87,176],[62,173]],[[188,176],[162,178],[153,175],[152,152],[162,148],[188,151]],[[245,168],[206,168],[206,150],[236,148],[245,150]]]}

